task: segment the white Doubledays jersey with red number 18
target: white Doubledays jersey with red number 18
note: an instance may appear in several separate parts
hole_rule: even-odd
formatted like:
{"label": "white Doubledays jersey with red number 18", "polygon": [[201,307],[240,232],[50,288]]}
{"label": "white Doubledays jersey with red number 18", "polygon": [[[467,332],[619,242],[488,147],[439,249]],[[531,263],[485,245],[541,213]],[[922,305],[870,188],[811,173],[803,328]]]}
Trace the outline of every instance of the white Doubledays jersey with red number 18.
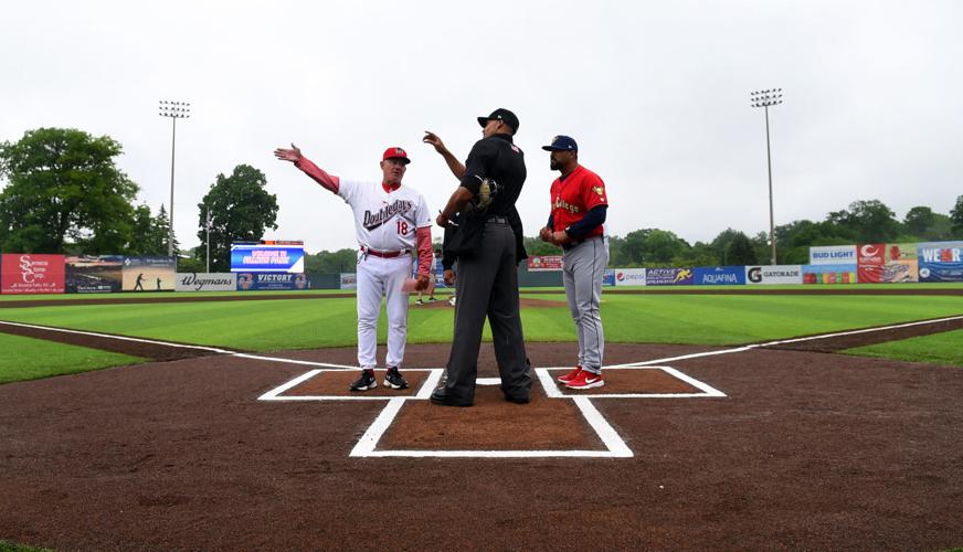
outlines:
{"label": "white Doubledays jersey with red number 18", "polygon": [[389,193],[381,182],[341,179],[338,195],[354,212],[354,232],[363,247],[414,251],[415,230],[432,225],[425,199],[406,185]]}

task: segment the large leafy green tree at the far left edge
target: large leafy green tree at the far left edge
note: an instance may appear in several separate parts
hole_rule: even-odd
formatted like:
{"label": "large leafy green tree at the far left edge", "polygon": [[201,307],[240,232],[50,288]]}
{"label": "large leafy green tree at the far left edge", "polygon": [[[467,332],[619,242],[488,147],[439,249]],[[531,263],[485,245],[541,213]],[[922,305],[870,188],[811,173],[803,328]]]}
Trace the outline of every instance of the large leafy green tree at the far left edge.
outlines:
{"label": "large leafy green tree at the far left edge", "polygon": [[64,128],[0,144],[0,248],[91,254],[126,251],[138,187],[115,164],[120,145]]}

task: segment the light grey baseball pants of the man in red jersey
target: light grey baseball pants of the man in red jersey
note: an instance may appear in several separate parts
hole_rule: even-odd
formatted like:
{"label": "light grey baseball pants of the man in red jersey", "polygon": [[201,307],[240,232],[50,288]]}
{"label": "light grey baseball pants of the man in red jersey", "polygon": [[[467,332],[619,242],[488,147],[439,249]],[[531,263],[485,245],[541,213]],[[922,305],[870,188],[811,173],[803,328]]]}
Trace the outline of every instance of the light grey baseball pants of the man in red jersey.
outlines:
{"label": "light grey baseball pants of the man in red jersey", "polygon": [[562,257],[565,298],[579,333],[579,365],[602,372],[605,336],[602,332],[602,277],[609,266],[609,238],[592,237],[565,251]]}

